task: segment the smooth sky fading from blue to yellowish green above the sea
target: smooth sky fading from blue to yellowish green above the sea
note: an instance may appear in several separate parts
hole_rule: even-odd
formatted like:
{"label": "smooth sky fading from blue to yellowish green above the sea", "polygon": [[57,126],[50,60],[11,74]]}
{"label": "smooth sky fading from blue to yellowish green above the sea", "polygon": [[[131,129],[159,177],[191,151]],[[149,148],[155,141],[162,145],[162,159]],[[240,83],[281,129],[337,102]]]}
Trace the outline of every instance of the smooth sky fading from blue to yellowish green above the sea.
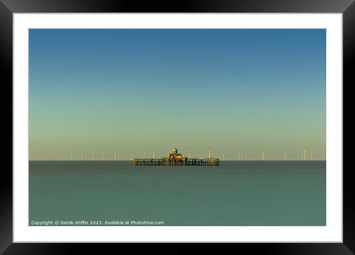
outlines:
{"label": "smooth sky fading from blue to yellowish green above the sea", "polygon": [[326,160],[325,29],[30,29],[29,159]]}

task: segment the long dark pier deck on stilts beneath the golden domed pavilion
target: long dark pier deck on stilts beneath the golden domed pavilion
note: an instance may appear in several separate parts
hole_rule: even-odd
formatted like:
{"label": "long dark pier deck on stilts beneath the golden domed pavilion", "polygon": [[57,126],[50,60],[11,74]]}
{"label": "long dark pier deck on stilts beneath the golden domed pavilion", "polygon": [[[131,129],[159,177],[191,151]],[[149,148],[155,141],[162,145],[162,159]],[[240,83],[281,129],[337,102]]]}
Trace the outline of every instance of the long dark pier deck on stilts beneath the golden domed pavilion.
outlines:
{"label": "long dark pier deck on stilts beneath the golden domed pavilion", "polygon": [[133,159],[133,166],[219,166],[219,159]]}

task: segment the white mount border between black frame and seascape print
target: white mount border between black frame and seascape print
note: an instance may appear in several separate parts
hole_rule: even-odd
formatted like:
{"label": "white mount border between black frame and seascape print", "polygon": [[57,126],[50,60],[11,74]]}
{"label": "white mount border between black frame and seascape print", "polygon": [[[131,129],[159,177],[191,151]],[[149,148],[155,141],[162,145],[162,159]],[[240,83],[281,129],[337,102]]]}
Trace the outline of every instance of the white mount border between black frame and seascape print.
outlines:
{"label": "white mount border between black frame and seascape print", "polygon": [[[342,20],[341,13],[13,14],[13,242],[343,242]],[[28,227],[29,28],[326,28],[327,226]]]}

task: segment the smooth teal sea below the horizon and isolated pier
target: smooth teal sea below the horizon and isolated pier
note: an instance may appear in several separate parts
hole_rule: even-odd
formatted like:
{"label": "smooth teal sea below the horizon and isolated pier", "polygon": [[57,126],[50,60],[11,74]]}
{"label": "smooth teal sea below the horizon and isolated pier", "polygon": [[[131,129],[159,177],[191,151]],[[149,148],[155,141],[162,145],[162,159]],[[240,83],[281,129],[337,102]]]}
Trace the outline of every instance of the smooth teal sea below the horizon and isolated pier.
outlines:
{"label": "smooth teal sea below the horizon and isolated pier", "polygon": [[325,226],[326,162],[134,167],[131,161],[30,161],[29,225],[55,220]]}

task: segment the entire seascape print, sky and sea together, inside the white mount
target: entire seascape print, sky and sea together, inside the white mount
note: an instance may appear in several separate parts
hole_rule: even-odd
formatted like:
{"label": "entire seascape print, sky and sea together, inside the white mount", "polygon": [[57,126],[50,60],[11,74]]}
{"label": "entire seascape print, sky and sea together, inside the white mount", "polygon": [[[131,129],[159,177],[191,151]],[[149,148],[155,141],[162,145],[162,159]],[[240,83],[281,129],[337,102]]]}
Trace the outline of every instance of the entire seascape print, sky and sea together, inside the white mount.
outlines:
{"label": "entire seascape print, sky and sea together, inside the white mount", "polygon": [[30,226],[326,226],[326,152],[325,29],[29,29]]}

